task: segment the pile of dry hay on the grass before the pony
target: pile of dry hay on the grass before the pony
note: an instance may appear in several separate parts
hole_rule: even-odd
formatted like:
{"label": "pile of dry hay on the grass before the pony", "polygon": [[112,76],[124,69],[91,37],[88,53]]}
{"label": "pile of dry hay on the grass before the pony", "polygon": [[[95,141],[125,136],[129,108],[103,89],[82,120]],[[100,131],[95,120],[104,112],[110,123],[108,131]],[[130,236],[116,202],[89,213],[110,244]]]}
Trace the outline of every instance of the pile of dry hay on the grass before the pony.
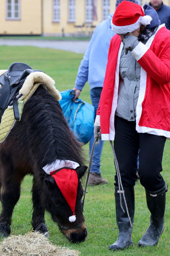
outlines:
{"label": "pile of dry hay on the grass before the pony", "polygon": [[39,232],[9,236],[0,243],[1,256],[78,256],[79,252],[57,247]]}

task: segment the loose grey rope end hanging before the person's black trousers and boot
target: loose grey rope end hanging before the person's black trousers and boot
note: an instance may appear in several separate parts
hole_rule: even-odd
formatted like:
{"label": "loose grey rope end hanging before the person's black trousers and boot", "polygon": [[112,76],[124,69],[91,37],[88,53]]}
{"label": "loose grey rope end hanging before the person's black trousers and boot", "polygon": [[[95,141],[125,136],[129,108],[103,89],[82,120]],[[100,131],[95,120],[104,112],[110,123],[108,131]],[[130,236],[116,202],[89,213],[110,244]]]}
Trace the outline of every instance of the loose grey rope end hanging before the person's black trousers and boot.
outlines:
{"label": "loose grey rope end hanging before the person's black trousers and boot", "polygon": [[[122,206],[122,197],[121,197],[121,194],[123,194],[123,199],[124,199],[125,206],[126,206],[127,216],[129,218],[130,226],[133,228],[133,225],[132,225],[132,222],[131,222],[131,219],[130,219],[130,216],[129,216],[129,211],[128,211],[128,208],[127,208],[127,203],[126,203],[124,189],[123,189],[123,186],[122,186],[122,180],[121,180],[119,165],[118,165],[118,162],[117,162],[117,157],[116,157],[116,153],[114,151],[114,147],[113,147],[112,141],[110,141],[110,145],[111,145],[112,152],[113,152],[113,157],[114,157],[114,162],[115,162],[115,167],[116,167],[116,173],[117,173],[117,178],[118,178],[119,194],[120,194],[120,206],[122,208],[122,211],[125,213],[125,210],[123,209],[123,206]],[[122,193],[121,193],[121,189],[122,189]]]}

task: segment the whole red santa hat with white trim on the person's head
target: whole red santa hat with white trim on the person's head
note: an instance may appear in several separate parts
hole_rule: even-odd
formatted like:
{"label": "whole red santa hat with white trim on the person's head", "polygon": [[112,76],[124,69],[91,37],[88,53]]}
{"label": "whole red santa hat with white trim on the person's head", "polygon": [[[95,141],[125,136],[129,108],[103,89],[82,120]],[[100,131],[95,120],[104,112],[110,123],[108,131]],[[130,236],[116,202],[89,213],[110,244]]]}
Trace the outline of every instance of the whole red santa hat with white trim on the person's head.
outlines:
{"label": "whole red santa hat with white trim on the person's head", "polygon": [[148,25],[151,23],[152,17],[145,15],[140,5],[122,1],[113,15],[111,27],[116,34],[126,34],[140,28],[140,25]]}

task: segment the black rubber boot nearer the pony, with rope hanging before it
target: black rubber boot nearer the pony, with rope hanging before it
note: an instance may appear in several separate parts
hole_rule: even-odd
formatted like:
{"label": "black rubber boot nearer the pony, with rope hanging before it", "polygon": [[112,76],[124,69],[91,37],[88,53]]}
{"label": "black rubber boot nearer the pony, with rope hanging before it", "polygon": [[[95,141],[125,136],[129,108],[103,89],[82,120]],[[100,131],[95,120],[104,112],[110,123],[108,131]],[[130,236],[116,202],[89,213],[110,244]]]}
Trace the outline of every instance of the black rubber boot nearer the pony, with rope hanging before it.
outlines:
{"label": "black rubber boot nearer the pony, with rope hanging before it", "polygon": [[110,250],[123,250],[128,248],[130,245],[133,245],[132,241],[132,229],[133,229],[133,220],[134,220],[134,211],[135,211],[135,193],[134,187],[124,187],[124,194],[127,203],[127,208],[129,211],[130,220],[132,222],[132,227],[126,212],[126,206],[123,199],[123,194],[121,193],[122,206],[120,205],[120,193],[119,187],[115,187],[115,204],[116,204],[116,221],[119,228],[119,237],[115,243],[109,246]]}

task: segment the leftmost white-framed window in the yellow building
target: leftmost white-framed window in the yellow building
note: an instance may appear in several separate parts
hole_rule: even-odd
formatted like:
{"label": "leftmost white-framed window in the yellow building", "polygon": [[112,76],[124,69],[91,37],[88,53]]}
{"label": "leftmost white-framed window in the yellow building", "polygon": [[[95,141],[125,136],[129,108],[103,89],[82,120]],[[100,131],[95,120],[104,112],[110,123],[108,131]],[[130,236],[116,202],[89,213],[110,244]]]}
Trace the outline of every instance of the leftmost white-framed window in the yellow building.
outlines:
{"label": "leftmost white-framed window in the yellow building", "polygon": [[6,19],[20,19],[20,0],[6,0]]}

